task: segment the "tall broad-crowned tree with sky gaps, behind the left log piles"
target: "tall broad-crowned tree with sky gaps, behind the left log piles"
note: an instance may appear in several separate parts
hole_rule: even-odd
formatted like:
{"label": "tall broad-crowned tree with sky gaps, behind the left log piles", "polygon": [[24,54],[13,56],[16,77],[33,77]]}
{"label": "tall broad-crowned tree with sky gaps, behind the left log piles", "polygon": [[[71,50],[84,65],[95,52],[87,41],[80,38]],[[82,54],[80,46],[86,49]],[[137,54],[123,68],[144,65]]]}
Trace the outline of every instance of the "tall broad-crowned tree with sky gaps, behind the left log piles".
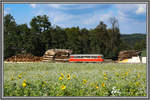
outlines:
{"label": "tall broad-crowned tree with sky gaps, behind the left log piles", "polygon": [[51,23],[46,15],[36,16],[31,22],[31,52],[36,56],[42,56],[51,47]]}

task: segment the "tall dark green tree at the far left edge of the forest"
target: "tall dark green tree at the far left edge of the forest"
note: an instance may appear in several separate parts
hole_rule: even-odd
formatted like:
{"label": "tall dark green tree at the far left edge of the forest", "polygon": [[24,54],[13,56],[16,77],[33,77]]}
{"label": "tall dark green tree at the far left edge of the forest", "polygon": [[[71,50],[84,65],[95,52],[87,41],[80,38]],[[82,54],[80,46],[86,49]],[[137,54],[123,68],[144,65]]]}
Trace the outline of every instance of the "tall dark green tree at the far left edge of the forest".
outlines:
{"label": "tall dark green tree at the far left edge of the forest", "polygon": [[17,53],[17,24],[10,14],[4,16],[4,59]]}

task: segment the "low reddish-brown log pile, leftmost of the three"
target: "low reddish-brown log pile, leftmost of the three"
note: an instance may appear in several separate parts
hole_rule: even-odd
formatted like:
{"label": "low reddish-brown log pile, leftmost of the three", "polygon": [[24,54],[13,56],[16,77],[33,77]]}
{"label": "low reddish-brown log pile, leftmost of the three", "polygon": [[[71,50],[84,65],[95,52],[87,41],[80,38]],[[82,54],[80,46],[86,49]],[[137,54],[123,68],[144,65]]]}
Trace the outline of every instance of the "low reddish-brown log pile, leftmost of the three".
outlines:
{"label": "low reddish-brown log pile, leftmost of the three", "polygon": [[40,62],[43,57],[33,56],[31,54],[18,54],[6,59],[6,62]]}

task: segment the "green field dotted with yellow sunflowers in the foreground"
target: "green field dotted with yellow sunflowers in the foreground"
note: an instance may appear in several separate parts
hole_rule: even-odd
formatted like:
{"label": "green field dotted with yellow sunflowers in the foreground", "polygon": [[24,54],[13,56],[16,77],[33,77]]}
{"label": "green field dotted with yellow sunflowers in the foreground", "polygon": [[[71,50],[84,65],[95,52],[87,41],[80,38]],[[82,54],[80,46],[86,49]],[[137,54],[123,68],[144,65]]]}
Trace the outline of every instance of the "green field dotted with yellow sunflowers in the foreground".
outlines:
{"label": "green field dotted with yellow sunflowers in the foreground", "polygon": [[146,96],[146,64],[4,63],[4,96]]}

